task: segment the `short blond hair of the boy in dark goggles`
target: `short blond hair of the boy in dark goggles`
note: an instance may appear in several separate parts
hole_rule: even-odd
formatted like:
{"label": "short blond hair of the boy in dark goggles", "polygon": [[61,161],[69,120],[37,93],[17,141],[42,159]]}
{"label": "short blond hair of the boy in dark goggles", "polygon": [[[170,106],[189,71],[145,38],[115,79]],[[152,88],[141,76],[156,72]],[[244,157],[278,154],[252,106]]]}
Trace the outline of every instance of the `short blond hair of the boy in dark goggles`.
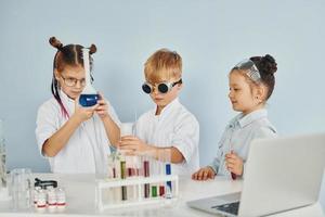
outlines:
{"label": "short blond hair of the boy in dark goggles", "polygon": [[168,49],[157,50],[144,64],[144,76],[150,82],[182,77],[182,58]]}

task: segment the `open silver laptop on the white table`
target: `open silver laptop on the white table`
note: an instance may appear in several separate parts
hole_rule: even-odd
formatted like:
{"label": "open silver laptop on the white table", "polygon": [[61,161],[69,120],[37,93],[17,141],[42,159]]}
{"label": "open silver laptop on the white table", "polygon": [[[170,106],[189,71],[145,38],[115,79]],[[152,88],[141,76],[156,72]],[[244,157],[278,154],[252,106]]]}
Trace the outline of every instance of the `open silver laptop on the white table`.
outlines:
{"label": "open silver laptop on the white table", "polygon": [[317,202],[325,168],[325,133],[258,139],[250,144],[240,193],[188,201],[223,216],[265,216]]}

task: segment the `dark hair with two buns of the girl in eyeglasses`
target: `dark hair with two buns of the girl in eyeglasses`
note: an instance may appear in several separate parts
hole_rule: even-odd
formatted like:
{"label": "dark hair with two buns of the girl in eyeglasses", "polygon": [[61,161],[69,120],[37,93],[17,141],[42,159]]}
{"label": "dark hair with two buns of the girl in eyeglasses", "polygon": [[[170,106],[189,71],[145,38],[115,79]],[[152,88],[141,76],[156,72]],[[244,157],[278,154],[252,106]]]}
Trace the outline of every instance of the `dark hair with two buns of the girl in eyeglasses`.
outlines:
{"label": "dark hair with two buns of the girl in eyeglasses", "polygon": [[[80,44],[67,44],[63,46],[60,40],[57,40],[55,37],[51,37],[49,39],[49,42],[52,47],[57,49],[57,52],[55,53],[54,60],[53,60],[53,78],[52,78],[52,85],[51,85],[51,91],[55,100],[61,106],[62,113],[65,117],[68,117],[68,113],[66,108],[64,107],[60,93],[58,93],[58,82],[55,78],[54,71],[63,72],[64,68],[68,66],[79,66],[81,65],[83,67],[83,60],[82,60],[82,49],[83,47]],[[89,48],[89,54],[93,54],[96,52],[95,44],[91,44]],[[93,60],[90,56],[90,68],[92,68]]]}

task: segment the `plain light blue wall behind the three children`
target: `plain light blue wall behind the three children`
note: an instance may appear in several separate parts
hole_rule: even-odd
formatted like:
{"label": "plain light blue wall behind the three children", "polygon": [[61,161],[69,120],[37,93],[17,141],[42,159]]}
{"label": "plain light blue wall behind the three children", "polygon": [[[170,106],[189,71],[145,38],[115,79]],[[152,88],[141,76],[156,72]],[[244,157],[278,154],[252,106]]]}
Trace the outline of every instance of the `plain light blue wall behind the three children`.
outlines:
{"label": "plain light blue wall behind the three children", "polygon": [[251,55],[277,60],[269,111],[281,135],[325,131],[324,11],[324,0],[0,0],[8,166],[49,169],[34,131],[37,107],[51,97],[51,36],[98,46],[95,87],[122,122],[153,106],[140,88],[145,60],[159,48],[177,50],[184,64],[180,98],[200,123],[202,165],[212,159],[235,115],[226,98],[227,72]]}

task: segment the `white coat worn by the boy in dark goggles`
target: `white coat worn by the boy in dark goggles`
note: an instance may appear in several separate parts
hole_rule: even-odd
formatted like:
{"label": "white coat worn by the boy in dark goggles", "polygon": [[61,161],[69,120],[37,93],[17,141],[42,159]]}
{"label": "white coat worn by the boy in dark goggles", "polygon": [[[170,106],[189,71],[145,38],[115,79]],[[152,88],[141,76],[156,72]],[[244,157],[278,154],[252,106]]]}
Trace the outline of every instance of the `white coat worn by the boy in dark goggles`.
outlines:
{"label": "white coat worn by the boy in dark goggles", "polygon": [[191,175],[199,167],[198,122],[178,99],[164,107],[160,115],[155,113],[156,107],[139,118],[135,126],[136,136],[155,146],[177,148],[185,159],[180,164],[171,164],[171,173]]}

